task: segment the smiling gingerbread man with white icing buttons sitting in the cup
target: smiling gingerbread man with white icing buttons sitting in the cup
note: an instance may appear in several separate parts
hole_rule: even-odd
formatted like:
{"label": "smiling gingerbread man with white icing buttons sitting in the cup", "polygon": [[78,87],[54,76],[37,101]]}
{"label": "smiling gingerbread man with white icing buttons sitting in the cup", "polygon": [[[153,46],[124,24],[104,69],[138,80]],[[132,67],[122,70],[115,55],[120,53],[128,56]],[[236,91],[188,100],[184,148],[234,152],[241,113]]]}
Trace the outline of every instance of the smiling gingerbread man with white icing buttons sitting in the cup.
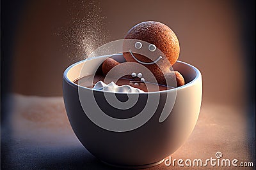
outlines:
{"label": "smiling gingerbread man with white icing buttons sitting in the cup", "polygon": [[[141,22],[130,29],[125,36],[125,39],[136,39],[136,42],[132,46],[124,45],[124,58],[127,62],[137,62],[147,67],[156,77],[157,83],[166,85],[166,77],[172,80],[176,80],[177,87],[184,85],[185,81],[183,76],[178,71],[171,71],[170,66],[175,64],[179,57],[180,46],[179,41],[175,33],[170,27],[154,21]],[[137,41],[138,40],[138,41]],[[141,53],[133,52],[138,51],[143,46],[143,42],[147,42],[147,50],[149,52],[155,52],[158,48],[168,59],[167,62],[163,60],[162,56],[145,57]],[[102,71],[106,75],[108,72],[120,64],[114,59],[108,58],[102,63]],[[166,76],[167,75],[167,76]],[[143,78],[143,73],[131,73],[132,78],[140,78],[142,82],[147,81]]]}

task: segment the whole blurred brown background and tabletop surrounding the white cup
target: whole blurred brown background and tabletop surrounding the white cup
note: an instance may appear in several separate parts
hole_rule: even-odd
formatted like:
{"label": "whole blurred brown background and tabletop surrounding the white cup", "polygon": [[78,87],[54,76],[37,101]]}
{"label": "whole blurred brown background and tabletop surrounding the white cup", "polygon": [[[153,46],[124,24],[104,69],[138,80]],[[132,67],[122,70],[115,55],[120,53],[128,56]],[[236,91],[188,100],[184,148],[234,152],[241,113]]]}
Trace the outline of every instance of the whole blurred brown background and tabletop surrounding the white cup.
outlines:
{"label": "whole blurred brown background and tabletop surrounding the white cup", "polygon": [[[179,38],[179,60],[198,67],[203,76],[198,122],[172,157],[209,159],[222,152],[223,158],[255,161],[253,1],[15,2],[1,1],[3,169],[114,169],[87,152],[68,123],[61,97],[62,74],[88,53],[76,48],[77,37],[68,31],[81,29],[90,34],[91,30],[100,32],[101,27],[103,32],[93,35],[99,38],[93,46],[97,48],[124,38],[133,25],[145,20],[170,26]],[[79,27],[74,20],[81,21]],[[91,25],[90,29],[84,31],[83,24]],[[4,98],[7,87],[12,87],[14,94]],[[183,169],[164,164],[150,169],[169,168]]]}

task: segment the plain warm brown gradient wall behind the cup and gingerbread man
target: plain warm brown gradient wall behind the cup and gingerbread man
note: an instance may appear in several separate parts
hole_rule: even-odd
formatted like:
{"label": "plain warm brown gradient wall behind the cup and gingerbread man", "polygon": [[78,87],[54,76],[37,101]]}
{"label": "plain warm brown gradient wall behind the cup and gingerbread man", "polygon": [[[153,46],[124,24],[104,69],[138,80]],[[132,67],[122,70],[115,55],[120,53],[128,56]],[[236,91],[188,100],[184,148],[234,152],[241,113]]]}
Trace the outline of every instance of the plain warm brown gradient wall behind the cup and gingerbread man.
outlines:
{"label": "plain warm brown gradient wall behind the cup and gingerbread man", "polygon": [[[102,11],[100,15],[106,17],[103,26],[109,31],[108,41],[124,38],[139,22],[163,22],[179,38],[179,60],[202,72],[203,102],[243,104],[245,57],[239,32],[241,22],[234,1],[95,3]],[[56,33],[61,27],[68,27],[69,8],[65,1],[31,1],[26,6],[13,48],[14,92],[34,96],[62,95],[63,71],[74,60],[68,57],[65,51],[68,49],[63,49],[63,40]],[[80,17],[86,15],[84,12]]]}

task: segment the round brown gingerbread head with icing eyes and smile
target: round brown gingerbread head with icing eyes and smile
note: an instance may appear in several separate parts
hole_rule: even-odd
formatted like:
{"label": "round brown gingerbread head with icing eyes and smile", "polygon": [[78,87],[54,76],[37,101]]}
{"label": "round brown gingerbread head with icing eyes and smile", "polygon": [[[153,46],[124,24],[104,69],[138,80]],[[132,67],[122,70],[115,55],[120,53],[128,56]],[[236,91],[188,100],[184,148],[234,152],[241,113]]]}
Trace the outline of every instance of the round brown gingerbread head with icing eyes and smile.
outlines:
{"label": "round brown gingerbread head with icing eyes and smile", "polygon": [[[179,57],[180,46],[177,36],[170,27],[160,22],[141,22],[130,29],[125,39],[138,39],[133,46],[124,46],[124,48],[131,48],[125,49],[125,51],[129,51],[124,53],[125,60],[129,62],[139,62],[148,67],[152,73],[156,70],[156,66],[154,65],[161,59],[161,56],[154,56],[156,48],[163,52],[168,59],[170,62],[170,64],[168,64],[169,67],[170,65],[172,66]],[[143,45],[143,41],[146,41],[149,45]],[[144,56],[140,53],[136,53],[136,51],[141,48],[147,48],[148,51],[152,52],[152,55]]]}

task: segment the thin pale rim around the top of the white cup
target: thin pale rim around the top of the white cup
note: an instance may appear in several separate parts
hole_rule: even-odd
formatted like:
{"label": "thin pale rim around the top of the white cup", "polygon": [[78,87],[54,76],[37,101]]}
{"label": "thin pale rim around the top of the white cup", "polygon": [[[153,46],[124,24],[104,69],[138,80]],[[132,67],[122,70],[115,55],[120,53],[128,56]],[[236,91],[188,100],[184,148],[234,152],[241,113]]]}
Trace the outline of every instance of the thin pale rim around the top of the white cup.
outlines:
{"label": "thin pale rim around the top of the white cup", "polygon": [[[113,55],[113,54],[112,54]],[[88,60],[92,60],[92,59],[95,59],[95,58],[99,58],[99,57],[110,57],[112,55],[102,55],[102,56],[98,56],[98,57],[92,57],[92,58],[89,58],[89,59],[84,59],[84,60],[81,60],[79,62],[75,62],[74,64],[71,64],[70,66],[67,67],[67,69],[65,69],[64,73],[63,73],[63,79],[65,81],[67,81],[67,83],[69,83],[70,85],[72,85],[73,87],[79,87],[79,88],[83,88],[83,89],[86,89],[86,90],[94,90],[94,91],[97,91],[97,92],[103,92],[102,90],[96,90],[96,89],[92,89],[92,88],[88,88],[88,87],[83,87],[81,85],[77,85],[76,83],[74,83],[73,81],[71,81],[68,77],[67,77],[67,73],[68,71],[70,71],[70,69],[74,66],[77,66],[78,64],[81,64],[82,62],[86,62]],[[196,73],[196,76],[195,78],[193,78],[193,80],[191,80],[189,83],[186,83],[185,85],[182,85],[180,87],[176,87],[176,88],[173,88],[173,89],[168,89],[168,90],[161,90],[161,91],[158,91],[158,92],[144,92],[144,93],[140,93],[140,94],[155,94],[155,93],[164,93],[164,92],[172,92],[174,90],[180,90],[180,89],[187,89],[189,87],[191,87],[196,80],[198,80],[198,78],[201,77],[201,73],[199,71],[199,69],[197,69],[195,66],[192,66],[191,64],[188,64],[186,62],[183,62],[183,61],[180,61],[180,60],[177,60],[176,62],[179,62],[179,63],[182,63],[182,64],[185,64],[189,67],[191,67],[195,73]],[[109,92],[109,91],[104,91],[104,92]],[[115,93],[115,94],[124,94],[122,92],[109,92],[109,93]],[[132,94],[132,93],[131,93]],[[136,93],[137,94],[137,93]]]}

